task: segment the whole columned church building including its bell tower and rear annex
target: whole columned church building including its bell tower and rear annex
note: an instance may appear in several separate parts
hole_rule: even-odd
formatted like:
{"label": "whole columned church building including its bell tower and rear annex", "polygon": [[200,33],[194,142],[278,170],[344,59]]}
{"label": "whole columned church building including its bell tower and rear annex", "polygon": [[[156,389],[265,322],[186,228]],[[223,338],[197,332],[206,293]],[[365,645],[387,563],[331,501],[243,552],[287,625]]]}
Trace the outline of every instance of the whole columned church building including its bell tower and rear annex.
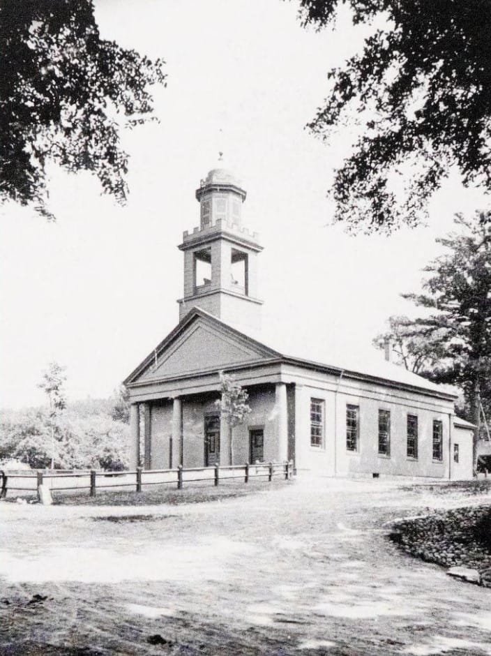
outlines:
{"label": "whole columned church building including its bell tower and rear annex", "polygon": [[228,462],[216,409],[220,371],[246,387],[252,410],[234,428],[234,464],[294,461],[323,475],[472,477],[473,426],[455,395],[374,352],[336,363],[322,344],[299,349],[262,326],[257,233],[242,223],[246,191],[213,169],[196,191],[199,227],[183,233],[179,324],[125,380],[131,466]]}

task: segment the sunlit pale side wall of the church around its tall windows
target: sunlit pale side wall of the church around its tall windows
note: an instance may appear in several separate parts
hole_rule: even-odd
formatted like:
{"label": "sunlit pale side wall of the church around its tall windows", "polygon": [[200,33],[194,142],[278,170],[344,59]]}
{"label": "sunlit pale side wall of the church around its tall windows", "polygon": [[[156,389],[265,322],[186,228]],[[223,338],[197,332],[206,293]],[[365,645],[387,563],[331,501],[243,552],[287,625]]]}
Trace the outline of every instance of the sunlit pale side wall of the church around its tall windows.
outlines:
{"label": "sunlit pale side wall of the church around its tall windows", "polygon": [[[418,392],[377,383],[339,380],[334,375],[290,370],[296,380],[296,467],[325,475],[404,475],[448,478],[450,475],[449,423],[453,403]],[[324,445],[310,445],[310,399],[324,400]],[[359,407],[358,451],[346,448],[346,406]],[[391,412],[391,453],[378,453],[378,411]],[[407,415],[418,417],[418,459],[407,458]],[[443,428],[442,460],[432,459],[433,420]],[[463,440],[461,440],[463,442]],[[471,475],[467,451],[460,447],[460,476]],[[466,472],[467,473],[466,475]]]}

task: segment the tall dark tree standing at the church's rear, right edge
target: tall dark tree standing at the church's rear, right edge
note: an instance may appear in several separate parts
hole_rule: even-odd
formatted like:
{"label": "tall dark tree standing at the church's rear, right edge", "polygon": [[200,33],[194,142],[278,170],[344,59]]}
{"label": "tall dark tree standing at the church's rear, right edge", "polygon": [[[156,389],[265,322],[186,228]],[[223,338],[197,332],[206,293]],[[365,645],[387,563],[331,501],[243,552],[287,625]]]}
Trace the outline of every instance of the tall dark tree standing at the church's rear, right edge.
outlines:
{"label": "tall dark tree standing at the church's rear, right edge", "polygon": [[458,215],[455,224],[462,232],[437,239],[447,252],[425,267],[426,293],[403,296],[428,312],[409,329],[433,345],[439,341],[433,366],[421,373],[464,392],[468,417],[477,426],[475,465],[481,402],[491,401],[491,216]]}

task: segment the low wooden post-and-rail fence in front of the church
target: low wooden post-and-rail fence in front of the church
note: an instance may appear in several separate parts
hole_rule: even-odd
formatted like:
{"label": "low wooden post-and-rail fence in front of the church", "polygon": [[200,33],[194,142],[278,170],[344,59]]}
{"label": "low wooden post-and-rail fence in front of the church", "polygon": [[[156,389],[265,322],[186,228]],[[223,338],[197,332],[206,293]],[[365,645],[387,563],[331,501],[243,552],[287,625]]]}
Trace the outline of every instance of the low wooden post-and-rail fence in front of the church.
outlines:
{"label": "low wooden post-and-rail fence in front of the church", "polygon": [[215,486],[220,481],[267,477],[271,482],[275,477],[286,480],[292,477],[293,462],[255,463],[244,465],[214,465],[211,467],[191,467],[184,469],[179,465],[175,469],[142,469],[123,472],[100,472],[97,470],[36,470],[31,472],[9,472],[0,470],[0,498],[5,498],[9,491],[37,493],[40,485],[46,484],[52,492],[68,490],[89,490],[95,496],[98,490],[132,487],[141,492],[146,485],[174,484],[181,490],[185,484],[210,482]]}

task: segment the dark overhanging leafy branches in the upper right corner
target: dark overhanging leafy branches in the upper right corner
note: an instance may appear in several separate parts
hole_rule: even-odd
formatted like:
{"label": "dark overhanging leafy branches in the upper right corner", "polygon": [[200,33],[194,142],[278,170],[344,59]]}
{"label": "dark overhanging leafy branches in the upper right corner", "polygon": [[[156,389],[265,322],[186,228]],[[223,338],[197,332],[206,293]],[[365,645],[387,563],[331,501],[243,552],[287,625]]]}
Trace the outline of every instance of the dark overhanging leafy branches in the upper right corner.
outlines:
{"label": "dark overhanging leafy branches in the upper right corner", "polygon": [[[349,110],[363,125],[335,172],[335,219],[367,232],[415,225],[453,165],[465,185],[490,190],[491,3],[300,0],[303,27],[335,25],[343,5],[353,24],[372,30],[363,52],[328,73],[330,95],[308,126],[326,140]],[[397,173],[406,183],[400,203]]]}

